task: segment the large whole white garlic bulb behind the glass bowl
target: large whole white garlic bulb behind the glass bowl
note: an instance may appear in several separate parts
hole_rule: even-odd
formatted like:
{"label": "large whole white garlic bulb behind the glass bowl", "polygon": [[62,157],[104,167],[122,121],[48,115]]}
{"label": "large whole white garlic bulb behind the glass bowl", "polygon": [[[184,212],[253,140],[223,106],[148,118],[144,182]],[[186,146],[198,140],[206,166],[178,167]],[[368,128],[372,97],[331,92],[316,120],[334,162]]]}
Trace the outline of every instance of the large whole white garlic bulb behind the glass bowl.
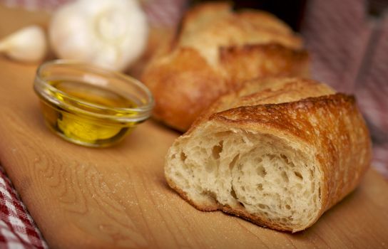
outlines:
{"label": "large whole white garlic bulb behind the glass bowl", "polygon": [[48,35],[59,58],[124,70],[146,48],[148,23],[136,0],[78,0],[56,11]]}

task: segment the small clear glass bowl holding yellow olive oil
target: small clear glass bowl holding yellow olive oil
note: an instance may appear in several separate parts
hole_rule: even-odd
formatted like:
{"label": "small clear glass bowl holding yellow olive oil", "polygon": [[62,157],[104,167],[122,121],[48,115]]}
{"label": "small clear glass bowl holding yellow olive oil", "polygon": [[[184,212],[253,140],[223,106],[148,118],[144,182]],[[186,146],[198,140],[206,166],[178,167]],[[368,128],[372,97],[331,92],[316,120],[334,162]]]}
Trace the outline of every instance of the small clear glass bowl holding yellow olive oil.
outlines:
{"label": "small clear glass bowl holding yellow olive oil", "polygon": [[88,147],[119,142],[150,117],[153,97],[127,75],[69,60],[52,60],[36,71],[34,90],[48,127]]}

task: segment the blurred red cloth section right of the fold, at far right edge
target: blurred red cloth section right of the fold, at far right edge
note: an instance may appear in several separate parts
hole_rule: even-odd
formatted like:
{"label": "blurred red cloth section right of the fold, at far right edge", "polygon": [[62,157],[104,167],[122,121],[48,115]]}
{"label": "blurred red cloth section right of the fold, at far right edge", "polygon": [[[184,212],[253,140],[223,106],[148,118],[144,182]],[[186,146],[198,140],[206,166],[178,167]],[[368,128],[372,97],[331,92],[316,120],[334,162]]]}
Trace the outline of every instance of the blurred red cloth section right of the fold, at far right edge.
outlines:
{"label": "blurred red cloth section right of the fold, at far right edge", "polygon": [[388,178],[388,14],[376,24],[369,52],[355,92],[374,141],[373,166]]}

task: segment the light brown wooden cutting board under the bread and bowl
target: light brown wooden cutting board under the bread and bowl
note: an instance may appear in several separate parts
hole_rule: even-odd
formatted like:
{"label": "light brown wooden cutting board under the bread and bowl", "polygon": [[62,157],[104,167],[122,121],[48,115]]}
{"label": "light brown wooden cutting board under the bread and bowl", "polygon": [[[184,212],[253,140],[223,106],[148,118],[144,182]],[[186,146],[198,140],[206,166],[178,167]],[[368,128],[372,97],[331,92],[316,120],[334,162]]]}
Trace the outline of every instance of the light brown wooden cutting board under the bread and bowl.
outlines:
{"label": "light brown wooden cutting board under the bread and bowl", "polygon": [[[0,7],[0,37],[45,18]],[[0,57],[0,161],[51,247],[388,247],[388,183],[372,169],[356,191],[300,233],[197,211],[163,177],[165,153],[178,133],[148,121],[116,147],[65,142],[45,127],[32,90],[35,70]]]}

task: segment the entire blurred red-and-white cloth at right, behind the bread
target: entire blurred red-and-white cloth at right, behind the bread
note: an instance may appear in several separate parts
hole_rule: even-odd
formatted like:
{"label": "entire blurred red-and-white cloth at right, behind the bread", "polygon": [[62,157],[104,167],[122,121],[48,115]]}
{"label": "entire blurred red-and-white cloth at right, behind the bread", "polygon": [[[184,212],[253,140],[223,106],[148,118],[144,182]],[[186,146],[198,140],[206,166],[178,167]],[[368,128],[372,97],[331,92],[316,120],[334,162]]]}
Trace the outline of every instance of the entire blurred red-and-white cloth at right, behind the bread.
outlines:
{"label": "entire blurred red-and-white cloth at right, behind the bread", "polygon": [[302,35],[312,75],[356,95],[372,135],[372,166],[388,179],[388,1],[377,4],[381,17],[370,16],[364,0],[310,0]]}

